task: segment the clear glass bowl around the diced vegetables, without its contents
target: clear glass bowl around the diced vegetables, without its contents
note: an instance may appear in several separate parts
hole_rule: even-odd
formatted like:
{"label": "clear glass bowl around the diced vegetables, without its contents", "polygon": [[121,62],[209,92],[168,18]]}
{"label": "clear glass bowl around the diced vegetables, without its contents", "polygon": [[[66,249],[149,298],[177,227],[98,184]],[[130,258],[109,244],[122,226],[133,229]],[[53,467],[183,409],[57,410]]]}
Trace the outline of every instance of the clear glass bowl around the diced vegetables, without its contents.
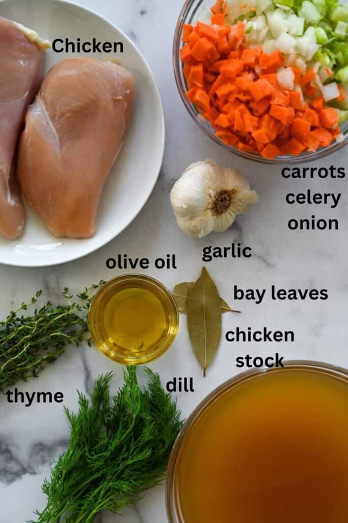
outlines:
{"label": "clear glass bowl around the diced vegetables, without its contents", "polygon": [[[184,7],[180,13],[179,19],[177,21],[176,29],[175,29],[175,36],[174,36],[174,45],[173,45],[173,65],[174,65],[174,74],[175,74],[175,80],[176,85],[178,87],[180,96],[184,102],[184,105],[188,112],[190,113],[191,117],[195,120],[195,122],[198,124],[198,126],[206,133],[208,136],[214,140],[214,142],[219,143],[226,149],[230,150],[231,152],[238,154],[239,156],[243,156],[244,158],[248,158],[248,160],[253,160],[255,162],[261,162],[261,163],[267,163],[267,164],[284,164],[284,163],[303,163],[303,162],[313,162],[314,160],[320,160],[320,158],[323,158],[327,156],[328,154],[334,153],[335,151],[339,151],[347,145],[348,143],[348,121],[346,121],[343,126],[341,126],[341,131],[344,135],[344,140],[342,142],[333,141],[331,145],[328,147],[322,147],[322,149],[318,149],[315,152],[305,152],[302,154],[299,154],[298,156],[277,156],[274,158],[274,160],[268,160],[267,158],[263,158],[260,154],[257,153],[250,153],[246,151],[239,151],[237,147],[234,147],[233,145],[227,145],[224,143],[224,141],[217,137],[215,135],[213,127],[210,125],[210,123],[200,114],[200,112],[196,109],[196,107],[191,104],[191,102],[186,98],[186,92],[187,92],[187,85],[186,80],[184,77],[183,72],[183,64],[180,59],[180,50],[182,48],[182,34],[183,34],[183,27],[184,24],[192,24],[195,25],[196,22],[201,18],[203,13],[207,13],[210,9],[210,7],[214,4],[214,0],[186,0]],[[203,21],[206,21],[207,17]]]}

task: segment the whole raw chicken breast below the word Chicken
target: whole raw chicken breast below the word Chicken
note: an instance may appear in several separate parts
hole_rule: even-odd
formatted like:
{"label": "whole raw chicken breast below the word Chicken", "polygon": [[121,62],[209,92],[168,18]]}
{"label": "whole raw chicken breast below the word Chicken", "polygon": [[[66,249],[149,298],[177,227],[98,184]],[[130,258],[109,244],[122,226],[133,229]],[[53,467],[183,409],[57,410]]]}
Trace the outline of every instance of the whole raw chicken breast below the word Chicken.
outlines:
{"label": "whole raw chicken breast below the word Chicken", "polygon": [[134,103],[131,74],[113,62],[53,66],[29,108],[18,154],[23,194],[56,236],[88,238]]}

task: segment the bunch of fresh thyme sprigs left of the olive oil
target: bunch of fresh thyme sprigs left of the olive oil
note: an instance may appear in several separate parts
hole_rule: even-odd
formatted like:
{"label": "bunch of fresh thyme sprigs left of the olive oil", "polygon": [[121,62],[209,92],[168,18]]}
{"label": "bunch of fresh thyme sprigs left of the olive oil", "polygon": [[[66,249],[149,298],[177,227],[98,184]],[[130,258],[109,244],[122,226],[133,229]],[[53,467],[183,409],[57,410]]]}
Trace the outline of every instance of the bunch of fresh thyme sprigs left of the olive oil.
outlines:
{"label": "bunch of fresh thyme sprigs left of the olive oil", "polygon": [[[38,291],[30,303],[22,303],[0,322],[0,392],[18,381],[37,377],[49,363],[61,356],[68,345],[89,343],[88,310],[91,291],[104,282],[74,295],[65,287],[64,304],[47,302],[33,314],[27,314],[38,302]],[[94,293],[94,292],[93,292]]]}

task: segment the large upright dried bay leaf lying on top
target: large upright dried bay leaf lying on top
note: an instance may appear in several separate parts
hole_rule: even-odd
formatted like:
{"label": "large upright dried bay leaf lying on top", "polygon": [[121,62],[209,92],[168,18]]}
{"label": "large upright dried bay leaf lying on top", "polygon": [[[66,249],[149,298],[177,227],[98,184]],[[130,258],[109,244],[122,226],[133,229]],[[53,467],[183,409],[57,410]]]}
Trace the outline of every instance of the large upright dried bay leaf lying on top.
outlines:
{"label": "large upright dried bay leaf lying on top", "polygon": [[203,368],[203,376],[212,362],[221,340],[221,302],[219,291],[205,267],[189,293],[187,327],[194,353]]}

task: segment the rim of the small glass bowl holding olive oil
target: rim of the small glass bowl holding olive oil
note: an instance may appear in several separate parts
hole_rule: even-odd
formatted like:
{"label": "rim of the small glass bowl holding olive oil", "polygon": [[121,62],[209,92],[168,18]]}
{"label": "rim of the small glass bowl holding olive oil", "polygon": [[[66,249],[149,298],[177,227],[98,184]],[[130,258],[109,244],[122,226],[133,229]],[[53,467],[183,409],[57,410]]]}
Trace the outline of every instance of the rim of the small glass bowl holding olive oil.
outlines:
{"label": "rim of the small glass bowl holding olive oil", "polygon": [[[112,288],[113,286],[117,286],[118,283],[126,280],[134,280],[134,281],[146,281],[152,285],[152,287],[157,287],[160,289],[160,291],[163,293],[165,299],[167,300],[167,303],[171,309],[172,313],[172,324],[177,327],[176,333],[169,334],[166,339],[160,344],[156,345],[155,348],[153,348],[151,354],[149,356],[140,356],[137,358],[133,358],[131,361],[126,361],[124,357],[119,356],[118,353],[112,351],[109,347],[106,346],[104,340],[102,339],[99,329],[97,329],[96,322],[95,322],[95,316],[96,312],[98,311],[98,302],[103,297],[103,294]],[[145,365],[155,359],[160,358],[163,356],[167,350],[170,349],[170,347],[173,345],[175,338],[178,333],[178,327],[179,327],[179,311],[176,304],[176,301],[174,299],[173,293],[165,286],[163,283],[156,278],[153,278],[152,276],[148,276],[145,274],[122,274],[119,276],[116,276],[104,283],[100,289],[94,294],[89,310],[88,310],[88,328],[89,332],[91,334],[93,343],[95,347],[107,358],[111,359],[112,361],[116,363],[121,363],[122,365]],[[100,342],[100,343],[99,343]]]}

